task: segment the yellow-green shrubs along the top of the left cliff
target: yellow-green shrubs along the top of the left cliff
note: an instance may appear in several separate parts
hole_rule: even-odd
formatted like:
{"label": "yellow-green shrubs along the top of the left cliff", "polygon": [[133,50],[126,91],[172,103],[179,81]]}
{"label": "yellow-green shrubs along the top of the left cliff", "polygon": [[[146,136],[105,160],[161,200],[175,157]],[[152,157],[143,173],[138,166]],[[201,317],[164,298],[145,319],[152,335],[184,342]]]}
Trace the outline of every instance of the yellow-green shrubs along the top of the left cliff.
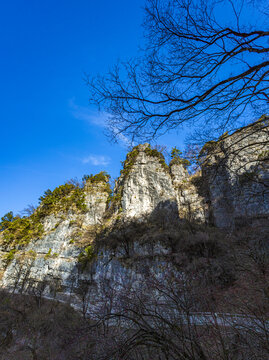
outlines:
{"label": "yellow-green shrubs along the top of the left cliff", "polygon": [[1,243],[10,250],[7,260],[14,258],[16,251],[23,248],[31,240],[38,239],[44,234],[43,220],[46,216],[73,210],[84,213],[85,190],[90,186],[103,183],[102,190],[110,192],[108,184],[109,175],[102,171],[96,175],[85,175],[82,183],[68,182],[56,187],[53,191],[48,189],[39,198],[39,206],[29,216],[14,216],[12,211],[1,218]]}

